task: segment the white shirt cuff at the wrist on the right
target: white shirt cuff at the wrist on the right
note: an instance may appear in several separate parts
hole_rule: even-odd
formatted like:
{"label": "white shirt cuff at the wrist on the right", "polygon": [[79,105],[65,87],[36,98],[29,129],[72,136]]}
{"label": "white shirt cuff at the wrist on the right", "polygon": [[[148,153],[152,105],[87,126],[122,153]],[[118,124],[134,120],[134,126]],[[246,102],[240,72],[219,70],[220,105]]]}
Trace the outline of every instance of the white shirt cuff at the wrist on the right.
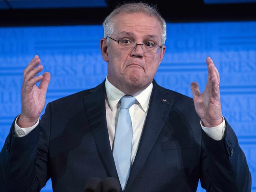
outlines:
{"label": "white shirt cuff at the wrist on the right", "polygon": [[226,129],[226,122],[224,117],[222,116],[223,122],[220,123],[220,125],[217,125],[215,127],[204,127],[203,123],[202,123],[202,119],[200,121],[201,127],[204,130],[204,132],[206,132],[206,134],[213,138],[214,140],[221,140],[222,138],[224,138],[224,132]]}

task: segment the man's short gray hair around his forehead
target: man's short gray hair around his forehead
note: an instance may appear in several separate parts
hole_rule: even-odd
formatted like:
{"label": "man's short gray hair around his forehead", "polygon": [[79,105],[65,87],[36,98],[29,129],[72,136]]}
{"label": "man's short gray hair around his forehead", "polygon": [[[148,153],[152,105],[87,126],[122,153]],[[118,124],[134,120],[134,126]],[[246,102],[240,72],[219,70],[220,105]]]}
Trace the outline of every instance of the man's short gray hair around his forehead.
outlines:
{"label": "man's short gray hair around his forehead", "polygon": [[127,3],[123,4],[112,11],[103,22],[104,37],[111,36],[114,33],[114,18],[120,13],[144,13],[149,17],[154,16],[160,21],[162,27],[161,41],[166,41],[166,22],[158,13],[156,6],[149,6],[145,3]]}

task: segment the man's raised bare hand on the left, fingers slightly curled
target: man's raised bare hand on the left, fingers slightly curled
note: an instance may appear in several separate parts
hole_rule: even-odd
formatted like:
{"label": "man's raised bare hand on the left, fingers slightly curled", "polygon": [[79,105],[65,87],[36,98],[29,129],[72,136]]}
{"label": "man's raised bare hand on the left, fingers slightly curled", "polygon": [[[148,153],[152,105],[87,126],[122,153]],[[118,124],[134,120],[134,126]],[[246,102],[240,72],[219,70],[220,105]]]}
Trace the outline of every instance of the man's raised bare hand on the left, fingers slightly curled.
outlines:
{"label": "man's raised bare hand on the left, fingers slightly curled", "polygon": [[[21,88],[21,115],[17,121],[19,127],[32,127],[45,106],[47,87],[50,82],[50,73],[36,76],[43,70],[40,59],[36,55],[23,73],[23,83]],[[39,65],[38,67],[36,67]],[[36,67],[36,68],[35,68]],[[41,81],[39,87],[36,83]]]}

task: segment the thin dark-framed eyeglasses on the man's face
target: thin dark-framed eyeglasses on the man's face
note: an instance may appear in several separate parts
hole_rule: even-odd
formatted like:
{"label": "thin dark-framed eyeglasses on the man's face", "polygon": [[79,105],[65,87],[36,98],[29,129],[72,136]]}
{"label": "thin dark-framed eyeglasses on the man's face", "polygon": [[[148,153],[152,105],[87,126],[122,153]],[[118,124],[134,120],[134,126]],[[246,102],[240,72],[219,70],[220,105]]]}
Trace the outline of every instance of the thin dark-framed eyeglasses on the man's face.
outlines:
{"label": "thin dark-framed eyeglasses on the man's face", "polygon": [[118,42],[118,49],[123,52],[124,54],[131,54],[131,52],[133,52],[137,45],[140,45],[141,48],[142,48],[142,51],[143,51],[143,54],[145,57],[149,57],[151,59],[154,59],[155,56],[157,54],[159,54],[161,48],[163,46],[160,46],[160,45],[155,45],[154,43],[151,43],[151,42],[146,42],[146,43],[143,43],[143,44],[138,44],[138,43],[135,43],[131,40],[128,40],[128,39],[122,39],[122,40],[116,40],[116,39],[113,39],[111,37],[106,37],[107,38],[110,38],[116,42]]}

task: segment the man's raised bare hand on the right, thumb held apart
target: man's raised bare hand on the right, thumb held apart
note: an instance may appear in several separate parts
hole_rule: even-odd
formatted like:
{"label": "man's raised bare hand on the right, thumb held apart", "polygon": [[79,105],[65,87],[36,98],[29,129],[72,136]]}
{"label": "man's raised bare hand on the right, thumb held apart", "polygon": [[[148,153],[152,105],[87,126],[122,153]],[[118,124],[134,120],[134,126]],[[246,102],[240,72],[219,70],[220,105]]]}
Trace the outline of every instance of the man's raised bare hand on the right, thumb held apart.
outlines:
{"label": "man's raised bare hand on the right, thumb held apart", "polygon": [[211,58],[207,57],[206,63],[208,76],[204,92],[200,93],[196,82],[191,83],[191,90],[196,113],[202,119],[204,126],[215,127],[223,121],[220,105],[220,76]]}

